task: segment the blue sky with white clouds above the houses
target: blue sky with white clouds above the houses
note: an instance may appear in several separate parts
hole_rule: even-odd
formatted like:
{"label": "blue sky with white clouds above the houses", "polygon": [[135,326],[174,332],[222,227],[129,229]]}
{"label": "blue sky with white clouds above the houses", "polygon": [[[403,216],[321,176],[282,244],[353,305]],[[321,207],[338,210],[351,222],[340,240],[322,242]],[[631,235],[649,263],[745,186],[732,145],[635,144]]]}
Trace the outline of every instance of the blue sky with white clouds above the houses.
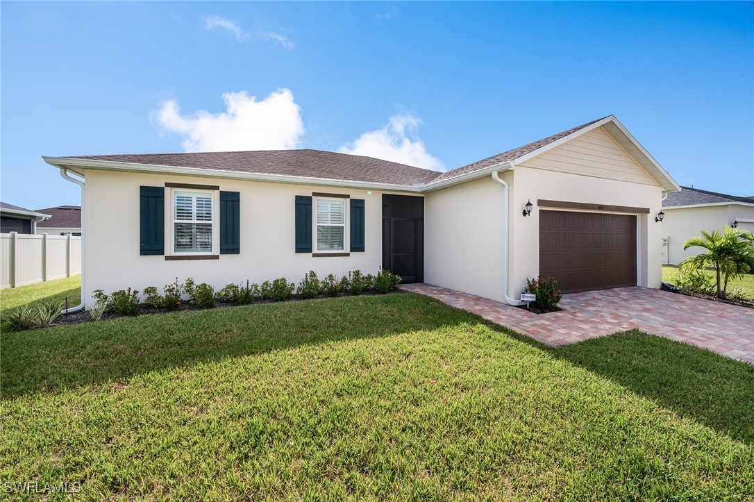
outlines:
{"label": "blue sky with white clouds above the houses", "polygon": [[41,155],[317,148],[452,169],[614,114],[754,195],[754,3],[2,3],[2,200]]}

